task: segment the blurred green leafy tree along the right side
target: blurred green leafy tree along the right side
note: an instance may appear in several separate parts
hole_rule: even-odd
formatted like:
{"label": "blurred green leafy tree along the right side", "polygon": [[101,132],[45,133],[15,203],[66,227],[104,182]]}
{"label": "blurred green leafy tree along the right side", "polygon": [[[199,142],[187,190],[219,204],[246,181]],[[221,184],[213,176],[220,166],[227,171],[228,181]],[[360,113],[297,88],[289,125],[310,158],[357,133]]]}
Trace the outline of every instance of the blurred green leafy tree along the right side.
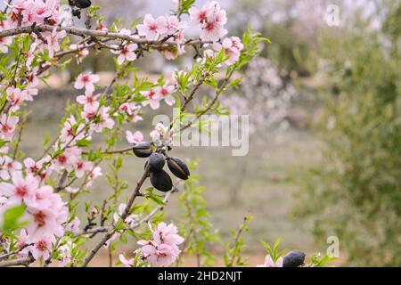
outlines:
{"label": "blurred green leafy tree along the right side", "polygon": [[299,175],[294,215],[340,238],[348,265],[401,265],[401,1],[379,1],[322,40],[335,96],[318,124],[322,163]]}

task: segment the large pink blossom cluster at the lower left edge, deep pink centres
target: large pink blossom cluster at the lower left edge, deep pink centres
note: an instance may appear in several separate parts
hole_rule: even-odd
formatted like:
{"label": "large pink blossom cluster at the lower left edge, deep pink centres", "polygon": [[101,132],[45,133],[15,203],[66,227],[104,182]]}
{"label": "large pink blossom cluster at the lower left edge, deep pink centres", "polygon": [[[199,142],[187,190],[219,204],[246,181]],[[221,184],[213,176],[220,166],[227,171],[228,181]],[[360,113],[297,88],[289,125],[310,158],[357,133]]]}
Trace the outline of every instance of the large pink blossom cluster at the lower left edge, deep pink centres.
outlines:
{"label": "large pink blossom cluster at the lower left edge, deep pink centres", "polygon": [[64,234],[68,208],[53,188],[43,185],[34,175],[13,171],[11,183],[0,183],[0,197],[6,201],[0,208],[12,208],[21,203],[26,206],[24,219],[29,221],[21,230],[17,247],[24,248],[20,254],[31,253],[35,259],[47,258],[56,237]]}

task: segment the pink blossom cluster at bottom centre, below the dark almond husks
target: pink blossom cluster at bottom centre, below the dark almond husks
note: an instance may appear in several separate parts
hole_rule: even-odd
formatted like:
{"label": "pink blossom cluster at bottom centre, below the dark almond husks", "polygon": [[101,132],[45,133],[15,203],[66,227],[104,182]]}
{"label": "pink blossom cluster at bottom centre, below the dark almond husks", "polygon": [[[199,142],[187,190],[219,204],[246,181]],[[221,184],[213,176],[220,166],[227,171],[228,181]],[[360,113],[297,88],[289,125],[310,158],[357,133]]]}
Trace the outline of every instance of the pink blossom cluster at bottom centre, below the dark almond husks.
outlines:
{"label": "pink blossom cluster at bottom centre, below the dark almond husks", "polygon": [[183,241],[174,224],[160,223],[153,232],[152,240],[138,241],[142,246],[138,252],[149,265],[164,267],[175,262],[180,254],[178,245]]}

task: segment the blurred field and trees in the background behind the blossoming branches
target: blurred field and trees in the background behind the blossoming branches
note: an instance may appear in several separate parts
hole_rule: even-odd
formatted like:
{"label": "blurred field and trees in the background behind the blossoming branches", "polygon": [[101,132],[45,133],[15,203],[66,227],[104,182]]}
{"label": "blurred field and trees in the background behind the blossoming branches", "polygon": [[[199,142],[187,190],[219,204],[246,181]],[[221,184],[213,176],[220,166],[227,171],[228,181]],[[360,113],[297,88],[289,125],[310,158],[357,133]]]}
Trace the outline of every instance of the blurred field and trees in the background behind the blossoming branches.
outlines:
{"label": "blurred field and trees in the background behind the blossoming branches", "polygon": [[[174,8],[170,1],[93,2],[102,6],[107,23],[123,18],[129,24],[144,12]],[[242,70],[241,88],[222,101],[232,113],[250,114],[249,155],[233,157],[225,148],[174,150],[176,156],[199,159],[196,174],[222,239],[251,212],[250,265],[264,260],[258,240],[273,243],[282,236],[284,248],[324,254],[334,235],[340,240],[337,265],[400,266],[401,1],[221,3],[231,35],[252,27],[271,39]],[[157,77],[188,66],[192,56],[188,51],[166,61],[151,53],[136,65]],[[112,77],[110,53],[88,57],[84,67],[101,74],[101,85]],[[49,78],[54,89],[44,88],[33,103],[37,116],[29,117],[27,155],[41,153],[37,142],[58,129],[65,102],[78,95],[70,81],[82,71],[72,62]],[[131,131],[137,129],[148,134],[151,126],[139,123]],[[142,163],[126,159],[123,177],[134,182]],[[100,202],[108,191],[100,179],[86,199]],[[168,217],[180,215],[176,203],[175,198],[166,208]],[[216,245],[216,256],[222,249]]]}

